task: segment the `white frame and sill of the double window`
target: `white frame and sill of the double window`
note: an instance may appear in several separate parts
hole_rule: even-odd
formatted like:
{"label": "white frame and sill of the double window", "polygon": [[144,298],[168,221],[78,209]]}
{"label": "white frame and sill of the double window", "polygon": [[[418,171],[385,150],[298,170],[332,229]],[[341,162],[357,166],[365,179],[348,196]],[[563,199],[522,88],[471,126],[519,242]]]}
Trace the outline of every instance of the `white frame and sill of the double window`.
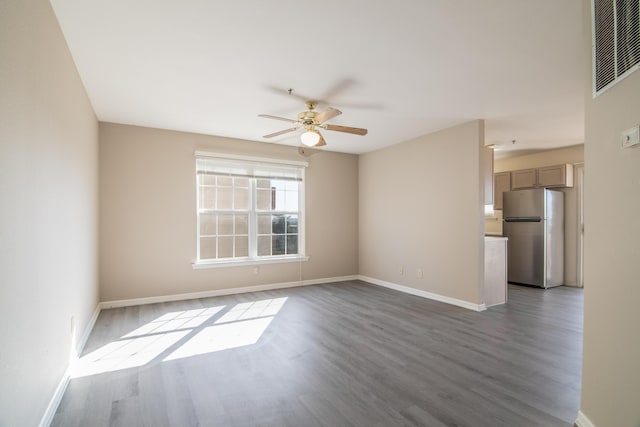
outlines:
{"label": "white frame and sill of the double window", "polygon": [[[252,168],[260,168],[267,167],[276,170],[273,176],[261,177],[261,176],[246,176],[249,179],[249,195],[248,195],[248,255],[246,257],[241,258],[221,258],[221,259],[200,259],[200,215],[202,209],[200,207],[200,172],[198,170],[199,160],[211,160],[212,162],[220,161],[228,164],[230,167],[238,167],[240,169],[247,168],[248,170]],[[263,157],[253,157],[253,156],[244,156],[244,155],[236,155],[236,154],[223,154],[223,153],[214,153],[214,152],[206,152],[206,151],[196,151],[195,152],[195,176],[194,176],[194,187],[196,190],[196,258],[192,263],[194,269],[202,269],[202,268],[218,268],[218,267],[230,267],[230,266],[246,266],[246,265],[261,265],[261,264],[272,264],[272,263],[287,263],[287,262],[300,262],[307,261],[309,259],[308,256],[305,255],[305,168],[308,166],[307,162],[301,161],[292,161],[292,160],[280,160],[280,159],[271,159],[271,158],[263,158]],[[278,169],[281,170],[282,175],[278,176]],[[286,210],[275,210],[271,209],[268,211],[258,210],[257,205],[257,181],[259,179],[273,179],[278,180],[281,178],[283,180],[290,180],[291,178],[285,177],[285,170],[297,170],[298,174],[298,210],[297,212],[286,211]],[[224,175],[224,174],[221,174]],[[234,176],[234,175],[230,175]],[[224,209],[208,209],[208,213],[215,213],[214,211],[225,211]],[[226,210],[230,214],[237,213],[235,209]],[[222,212],[224,213],[224,212]],[[258,217],[262,214],[270,214],[270,215],[291,215],[295,214],[298,216],[298,243],[297,243],[297,253],[296,254],[284,254],[284,255],[258,255]],[[286,225],[285,225],[286,227]],[[286,229],[285,229],[285,240],[286,240]],[[235,230],[234,230],[235,235]],[[273,231],[271,232],[273,236]]]}

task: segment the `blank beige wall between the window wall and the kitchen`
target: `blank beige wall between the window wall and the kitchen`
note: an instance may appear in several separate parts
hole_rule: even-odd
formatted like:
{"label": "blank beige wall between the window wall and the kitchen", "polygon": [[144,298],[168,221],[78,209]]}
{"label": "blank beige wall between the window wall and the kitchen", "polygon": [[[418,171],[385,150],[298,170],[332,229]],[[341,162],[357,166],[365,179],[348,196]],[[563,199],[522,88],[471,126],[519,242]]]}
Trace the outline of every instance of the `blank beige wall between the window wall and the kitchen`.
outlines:
{"label": "blank beige wall between the window wall and the kitchen", "polygon": [[360,274],[483,302],[483,124],[360,156]]}

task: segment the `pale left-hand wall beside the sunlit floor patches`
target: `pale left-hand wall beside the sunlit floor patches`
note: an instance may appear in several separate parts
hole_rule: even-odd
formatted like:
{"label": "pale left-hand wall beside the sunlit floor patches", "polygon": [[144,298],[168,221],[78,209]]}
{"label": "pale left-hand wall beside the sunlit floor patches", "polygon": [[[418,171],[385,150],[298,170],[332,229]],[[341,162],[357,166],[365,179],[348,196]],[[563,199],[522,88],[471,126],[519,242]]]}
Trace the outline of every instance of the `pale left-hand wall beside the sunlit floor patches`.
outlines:
{"label": "pale left-hand wall beside the sunlit floor patches", "polygon": [[98,124],[48,1],[0,3],[0,58],[0,425],[28,427],[98,302]]}

